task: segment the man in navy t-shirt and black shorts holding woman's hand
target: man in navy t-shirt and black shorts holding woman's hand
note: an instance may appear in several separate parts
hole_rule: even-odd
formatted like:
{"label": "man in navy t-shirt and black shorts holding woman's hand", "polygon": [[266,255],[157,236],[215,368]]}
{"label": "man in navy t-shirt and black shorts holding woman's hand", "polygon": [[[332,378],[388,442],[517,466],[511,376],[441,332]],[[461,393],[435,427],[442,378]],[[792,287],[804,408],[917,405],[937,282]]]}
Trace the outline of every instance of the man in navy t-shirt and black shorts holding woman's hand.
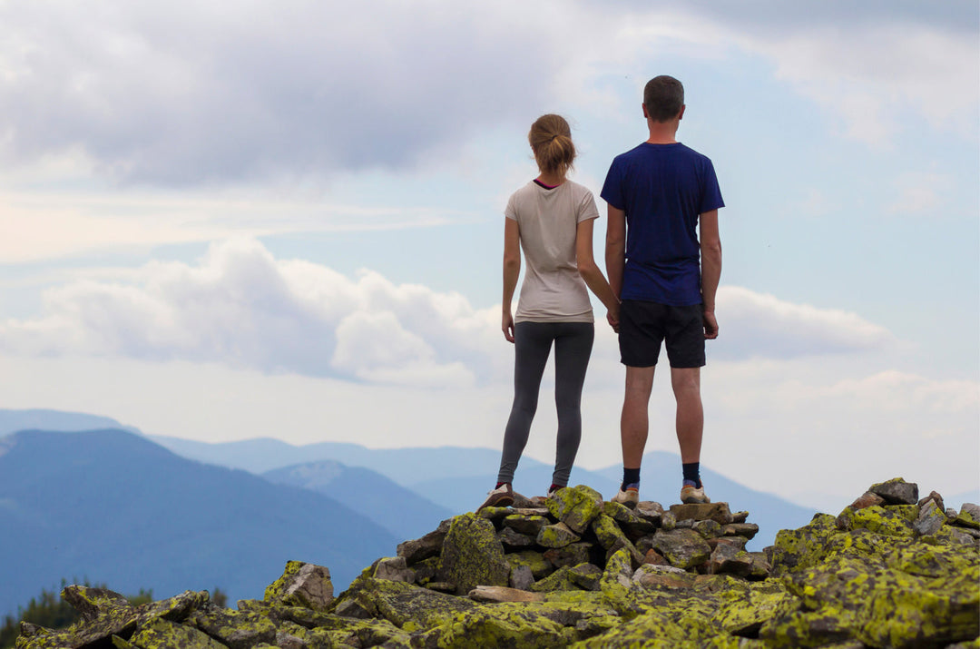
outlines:
{"label": "man in navy t-shirt and black shorts holding woman's hand", "polygon": [[[650,137],[613,160],[602,197],[609,204],[606,270],[622,300],[617,327],[626,366],[620,420],[623,479],[613,502],[639,500],[647,410],[661,344],[677,401],[681,502],[711,502],[701,482],[701,368],[705,340],[716,338],[714,294],[721,275],[718,208],[724,207],[711,160],[676,139],[684,86],[651,79],[643,95]],[[698,238],[700,222],[701,238]]]}

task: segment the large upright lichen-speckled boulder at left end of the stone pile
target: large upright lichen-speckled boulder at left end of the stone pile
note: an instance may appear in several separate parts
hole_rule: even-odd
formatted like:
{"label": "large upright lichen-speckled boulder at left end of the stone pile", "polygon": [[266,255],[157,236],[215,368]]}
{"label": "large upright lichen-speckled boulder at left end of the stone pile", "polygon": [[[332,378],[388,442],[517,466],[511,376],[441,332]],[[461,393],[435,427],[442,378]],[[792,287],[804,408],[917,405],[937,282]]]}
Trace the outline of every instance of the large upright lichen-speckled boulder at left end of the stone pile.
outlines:
{"label": "large upright lichen-speckled boulder at left end of the stone pile", "polygon": [[453,519],[440,554],[440,580],[456,584],[456,594],[466,595],[478,585],[506,586],[510,574],[492,523],[472,513]]}

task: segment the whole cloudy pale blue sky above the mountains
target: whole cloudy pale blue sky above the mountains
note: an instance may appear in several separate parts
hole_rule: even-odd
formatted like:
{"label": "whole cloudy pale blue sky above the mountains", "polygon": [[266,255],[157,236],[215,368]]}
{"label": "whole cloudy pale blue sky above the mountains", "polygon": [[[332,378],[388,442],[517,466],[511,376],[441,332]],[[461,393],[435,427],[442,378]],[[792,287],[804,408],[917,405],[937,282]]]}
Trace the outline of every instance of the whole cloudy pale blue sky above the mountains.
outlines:
{"label": "whole cloudy pale blue sky above the mountains", "polygon": [[[897,475],[976,489],[978,15],[0,1],[0,407],[213,442],[499,448],[527,129],[571,124],[601,260],[603,180],[667,74],[726,203],[703,464],[805,504]],[[588,469],[620,462],[624,375],[593,303]],[[553,372],[526,450],[544,462]],[[663,378],[648,450],[676,452]]]}

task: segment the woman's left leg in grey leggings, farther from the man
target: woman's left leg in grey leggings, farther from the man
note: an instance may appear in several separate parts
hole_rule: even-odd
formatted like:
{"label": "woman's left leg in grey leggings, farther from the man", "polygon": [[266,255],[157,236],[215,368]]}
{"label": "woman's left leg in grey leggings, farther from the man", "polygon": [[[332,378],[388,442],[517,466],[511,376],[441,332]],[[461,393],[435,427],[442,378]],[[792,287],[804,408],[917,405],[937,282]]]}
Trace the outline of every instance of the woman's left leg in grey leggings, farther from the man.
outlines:
{"label": "woman's left leg in grey leggings, farther from the man", "polygon": [[498,482],[513,482],[517,462],[527,444],[531,422],[538,409],[538,390],[545,372],[554,324],[517,323],[514,325],[514,405],[504,430]]}

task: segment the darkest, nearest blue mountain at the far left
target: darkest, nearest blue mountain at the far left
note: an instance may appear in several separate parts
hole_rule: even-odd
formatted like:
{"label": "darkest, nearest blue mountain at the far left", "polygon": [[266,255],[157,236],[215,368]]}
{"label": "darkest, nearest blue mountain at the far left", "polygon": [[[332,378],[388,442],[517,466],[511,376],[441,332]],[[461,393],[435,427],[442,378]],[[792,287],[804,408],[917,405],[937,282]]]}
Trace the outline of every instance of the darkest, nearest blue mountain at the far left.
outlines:
{"label": "darkest, nearest blue mountain at the far left", "polygon": [[394,554],[388,530],[324,495],[204,465],[123,430],[0,438],[0,616],[61,579],[157,598],[261,598],[291,559],[344,588]]}

